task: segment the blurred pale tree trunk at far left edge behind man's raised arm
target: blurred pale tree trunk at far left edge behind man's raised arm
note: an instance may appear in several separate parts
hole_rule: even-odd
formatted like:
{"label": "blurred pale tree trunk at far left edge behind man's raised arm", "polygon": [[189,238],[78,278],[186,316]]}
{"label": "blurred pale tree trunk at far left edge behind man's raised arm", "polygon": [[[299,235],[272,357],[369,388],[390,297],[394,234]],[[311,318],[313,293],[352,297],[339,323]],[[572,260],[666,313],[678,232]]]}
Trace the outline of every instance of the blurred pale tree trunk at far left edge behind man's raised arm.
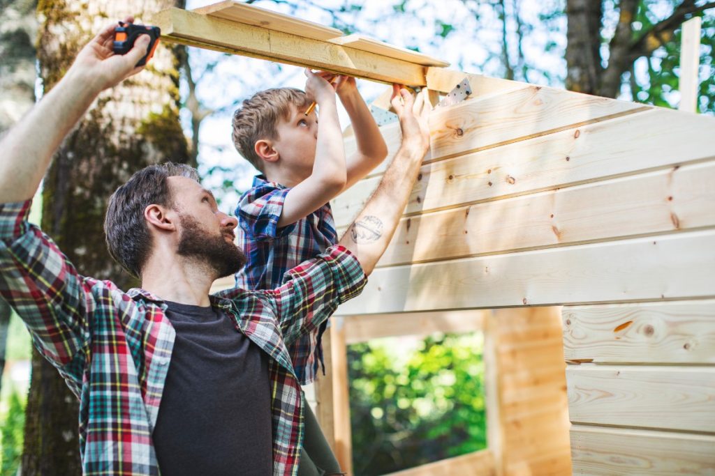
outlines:
{"label": "blurred pale tree trunk at far left edge behind man's raised arm", "polygon": [[[0,136],[35,102],[36,5],[37,0],[0,0]],[[0,298],[0,385],[10,314]]]}

